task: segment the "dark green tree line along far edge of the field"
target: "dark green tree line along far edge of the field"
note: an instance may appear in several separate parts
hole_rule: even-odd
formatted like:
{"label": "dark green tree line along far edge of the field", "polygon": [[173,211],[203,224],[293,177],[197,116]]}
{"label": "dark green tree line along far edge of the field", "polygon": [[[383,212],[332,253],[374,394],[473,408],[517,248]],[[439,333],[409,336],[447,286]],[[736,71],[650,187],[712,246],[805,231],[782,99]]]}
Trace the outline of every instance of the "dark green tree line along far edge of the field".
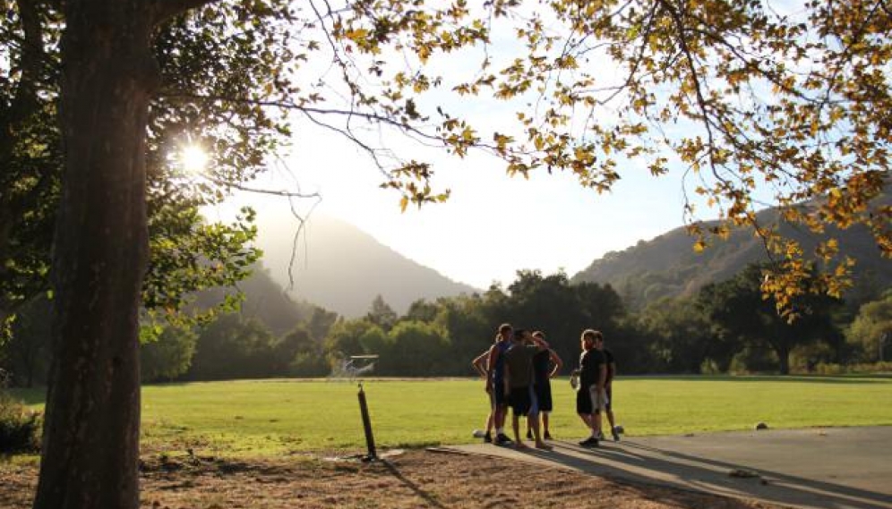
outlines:
{"label": "dark green tree line along far edge of the field", "polygon": [[[630,312],[608,285],[571,284],[566,274],[522,270],[507,288],[414,302],[403,316],[381,296],[365,317],[342,318],[302,305],[287,318],[264,312],[218,314],[206,323],[168,325],[145,335],[146,382],[230,378],[325,377],[350,355],[377,354],[374,374],[468,376],[470,360],[492,344],[496,327],[545,332],[572,365],[579,333],[604,332],[624,373],[807,372],[819,366],[892,358],[892,290],[868,301],[798,298],[791,323],[759,288],[751,265],[689,298],[664,298]],[[0,348],[13,383],[39,385],[48,366],[50,301],[32,301]],[[293,310],[296,310],[292,306]],[[249,316],[252,315],[252,316]],[[288,325],[290,324],[290,325]]]}

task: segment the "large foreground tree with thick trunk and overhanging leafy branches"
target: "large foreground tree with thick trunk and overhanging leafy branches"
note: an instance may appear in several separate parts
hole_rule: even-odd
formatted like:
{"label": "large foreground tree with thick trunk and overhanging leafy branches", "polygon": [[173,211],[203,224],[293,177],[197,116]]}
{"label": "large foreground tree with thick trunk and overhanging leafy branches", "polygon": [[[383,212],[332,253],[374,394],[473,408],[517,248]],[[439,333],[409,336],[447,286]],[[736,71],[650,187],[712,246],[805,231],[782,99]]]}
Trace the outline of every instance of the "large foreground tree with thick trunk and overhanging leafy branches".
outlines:
{"label": "large foreground tree with thick trunk and overhanging leafy branches", "polygon": [[[597,191],[620,178],[625,159],[639,158],[651,173],[665,174],[669,156],[678,157],[704,182],[693,191],[716,203],[726,224],[755,226],[780,253],[760,284],[785,310],[804,292],[803,281],[839,293],[847,260],[828,276],[806,277],[802,250],[753,224],[754,190],[762,182],[777,190],[773,199],[789,220],[816,230],[862,223],[884,253],[892,251],[892,208],[871,201],[888,174],[892,21],[882,2],[811,2],[799,16],[758,0],[560,0],[545,8],[494,0],[473,10],[424,0],[304,5],[306,13],[278,0],[17,0],[8,10],[13,28],[3,30],[7,44],[0,47],[17,73],[0,83],[12,98],[0,115],[6,122],[0,140],[15,145],[17,156],[30,150],[47,160],[47,147],[64,147],[56,181],[62,183],[46,185],[38,183],[36,166],[7,165],[13,149],[0,148],[3,178],[11,168],[20,172],[3,182],[4,190],[21,184],[32,196],[55,186],[61,197],[57,207],[46,204],[56,208],[52,270],[24,269],[29,277],[52,274],[57,299],[36,507],[139,503],[137,335],[149,262],[147,169],[162,154],[153,149],[170,146],[153,137],[155,121],[196,128],[196,136],[212,138],[209,144],[228,155],[222,160],[234,163],[236,169],[220,165],[214,178],[223,184],[210,186],[210,195],[250,178],[275,140],[269,116],[233,122],[226,113],[251,115],[270,104],[296,108],[315,122],[339,115],[346,120],[336,130],[382,167],[387,154],[365,142],[357,119],[439,143],[459,157],[486,148],[505,159],[510,174],[566,170]],[[487,46],[502,23],[516,51],[497,62]],[[563,30],[556,30],[560,23]],[[326,33],[314,38],[311,26]],[[153,41],[162,51],[154,51]],[[290,81],[304,71],[308,53],[323,47],[320,41],[330,52],[322,62],[335,66],[349,99],[343,109],[325,109],[322,87]],[[434,57],[471,49],[485,56],[470,78],[425,72]],[[388,63],[390,51],[403,58]],[[621,70],[615,81],[613,72],[603,72],[605,61]],[[210,84],[199,86],[201,79]],[[514,101],[519,111],[510,118],[519,119],[517,129],[477,131],[439,101],[422,98],[449,90]],[[211,106],[220,115],[209,115]],[[7,132],[30,132],[35,115],[56,112],[62,113],[60,144],[6,141]],[[488,115],[486,122],[500,125]],[[271,137],[256,143],[224,125]],[[384,185],[401,192],[404,208],[447,196],[430,185],[433,171],[425,162],[399,160],[385,169],[391,173]],[[183,187],[161,180],[170,190]],[[14,216],[10,203],[17,194],[4,192],[0,205],[0,251],[13,245],[13,221],[6,218]],[[802,199],[816,200],[797,207]],[[693,214],[693,204],[686,211]],[[704,233],[693,222],[691,229]],[[834,259],[838,246],[822,242],[818,251]],[[103,447],[108,443],[118,446]]]}

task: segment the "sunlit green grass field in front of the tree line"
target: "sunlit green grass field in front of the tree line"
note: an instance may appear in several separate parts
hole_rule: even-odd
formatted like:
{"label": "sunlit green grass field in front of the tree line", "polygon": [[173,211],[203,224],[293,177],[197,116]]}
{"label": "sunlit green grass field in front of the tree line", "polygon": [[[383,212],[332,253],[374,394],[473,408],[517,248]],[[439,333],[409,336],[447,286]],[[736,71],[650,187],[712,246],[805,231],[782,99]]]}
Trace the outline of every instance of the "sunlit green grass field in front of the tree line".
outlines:
{"label": "sunlit green grass field in front of the tree line", "polygon": [[[365,383],[374,436],[383,447],[467,443],[483,428],[482,380]],[[892,377],[630,377],[613,388],[628,436],[771,428],[892,425]],[[555,437],[584,429],[566,378],[553,381]],[[15,391],[34,407],[42,391]],[[145,386],[147,452],[253,456],[365,450],[356,384],[251,380]]]}

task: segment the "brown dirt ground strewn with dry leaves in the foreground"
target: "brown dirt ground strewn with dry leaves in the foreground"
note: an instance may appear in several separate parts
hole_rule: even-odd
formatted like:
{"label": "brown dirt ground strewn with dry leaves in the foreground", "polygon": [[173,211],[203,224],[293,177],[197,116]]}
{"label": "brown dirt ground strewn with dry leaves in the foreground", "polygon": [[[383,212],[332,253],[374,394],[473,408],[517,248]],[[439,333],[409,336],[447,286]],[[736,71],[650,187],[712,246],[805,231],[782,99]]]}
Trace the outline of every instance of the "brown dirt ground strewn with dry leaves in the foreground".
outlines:
{"label": "brown dirt ground strewn with dry leaves in the foreground", "polygon": [[[155,455],[142,464],[145,509],[293,507],[616,509],[775,508],[670,488],[468,454],[410,450],[387,462],[331,462],[324,455],[232,461]],[[0,463],[0,507],[27,509],[37,467]]]}

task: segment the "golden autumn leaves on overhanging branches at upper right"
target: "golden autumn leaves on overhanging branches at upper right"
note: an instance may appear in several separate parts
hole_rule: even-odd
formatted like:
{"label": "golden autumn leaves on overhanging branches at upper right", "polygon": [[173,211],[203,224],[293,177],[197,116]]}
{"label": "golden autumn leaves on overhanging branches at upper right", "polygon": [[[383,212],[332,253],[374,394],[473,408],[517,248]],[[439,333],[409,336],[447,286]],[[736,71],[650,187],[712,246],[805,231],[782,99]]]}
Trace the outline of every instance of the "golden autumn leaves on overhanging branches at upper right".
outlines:
{"label": "golden autumn leaves on overhanging branches at upper right", "polygon": [[[732,227],[754,229],[775,255],[762,290],[787,313],[808,290],[839,295],[853,262],[833,238],[803,252],[759,224],[758,208],[779,206],[814,233],[864,225],[892,256],[892,206],[875,200],[892,132],[892,18],[880,0],[357,0],[321,19],[355,111],[396,117],[459,157],[485,148],[509,174],[567,171],[596,191],[633,167],[682,167],[698,249]],[[469,72],[435,73],[433,62],[469,55],[479,63]],[[505,101],[518,122],[499,131],[492,117],[450,115],[437,101],[446,93]],[[407,161],[392,175],[404,207],[442,198],[426,184],[428,165]],[[699,224],[702,205],[720,225]],[[818,278],[807,277],[812,255]]]}

